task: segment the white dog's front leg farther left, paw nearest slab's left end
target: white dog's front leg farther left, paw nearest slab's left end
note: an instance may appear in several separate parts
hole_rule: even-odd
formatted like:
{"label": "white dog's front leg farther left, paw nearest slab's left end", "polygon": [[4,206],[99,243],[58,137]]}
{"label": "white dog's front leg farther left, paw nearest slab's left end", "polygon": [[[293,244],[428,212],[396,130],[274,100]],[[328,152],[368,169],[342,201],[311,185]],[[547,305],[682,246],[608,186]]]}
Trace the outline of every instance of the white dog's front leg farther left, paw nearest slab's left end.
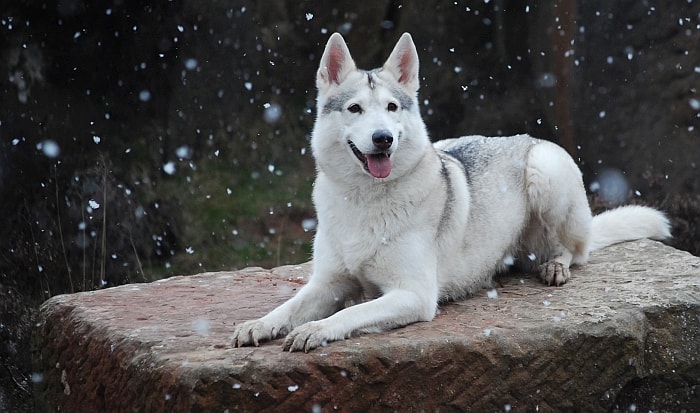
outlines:
{"label": "white dog's front leg farther left, paw nearest slab's left end", "polygon": [[233,345],[258,346],[262,341],[287,334],[298,325],[333,314],[343,307],[348,294],[348,291],[341,287],[343,286],[338,283],[333,285],[324,280],[315,281],[312,277],[309,284],[302,287],[297,295],[266,316],[246,321],[236,327],[233,332]]}

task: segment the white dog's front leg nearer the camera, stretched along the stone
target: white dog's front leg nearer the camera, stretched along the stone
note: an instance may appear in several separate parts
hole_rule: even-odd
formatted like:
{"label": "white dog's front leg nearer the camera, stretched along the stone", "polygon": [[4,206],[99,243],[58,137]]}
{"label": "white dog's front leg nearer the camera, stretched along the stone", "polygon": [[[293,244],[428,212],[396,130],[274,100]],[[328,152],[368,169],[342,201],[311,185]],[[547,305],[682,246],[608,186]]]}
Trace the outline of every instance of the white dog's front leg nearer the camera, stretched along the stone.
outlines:
{"label": "white dog's front leg nearer the camera, stretched along the stone", "polygon": [[345,308],[332,316],[295,328],[284,340],[284,350],[305,351],[363,330],[390,330],[435,316],[437,300],[429,291],[394,289],[381,297]]}

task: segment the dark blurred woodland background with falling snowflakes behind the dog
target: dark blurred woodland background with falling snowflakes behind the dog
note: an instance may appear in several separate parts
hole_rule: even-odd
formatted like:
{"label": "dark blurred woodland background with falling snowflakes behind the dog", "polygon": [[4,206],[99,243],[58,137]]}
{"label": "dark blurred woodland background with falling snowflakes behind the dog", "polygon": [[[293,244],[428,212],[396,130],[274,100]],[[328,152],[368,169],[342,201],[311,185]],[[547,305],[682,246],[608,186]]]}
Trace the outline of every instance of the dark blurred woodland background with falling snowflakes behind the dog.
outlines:
{"label": "dark blurred woodland background with falling snowflakes behind the dog", "polygon": [[45,299],[310,259],[328,36],[421,59],[434,140],[559,143],[596,211],[668,212],[700,253],[700,2],[0,3],[0,411],[32,411]]}

